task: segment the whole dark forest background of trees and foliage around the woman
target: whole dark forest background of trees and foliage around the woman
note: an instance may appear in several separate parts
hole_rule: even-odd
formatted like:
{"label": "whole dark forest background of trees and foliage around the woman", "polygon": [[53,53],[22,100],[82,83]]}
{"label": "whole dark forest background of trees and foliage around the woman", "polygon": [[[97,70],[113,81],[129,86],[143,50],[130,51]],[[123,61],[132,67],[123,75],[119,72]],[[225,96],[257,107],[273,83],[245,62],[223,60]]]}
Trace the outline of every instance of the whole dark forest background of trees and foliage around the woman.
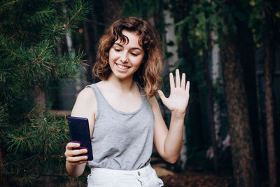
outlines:
{"label": "whole dark forest background of trees and foliage around the woman", "polygon": [[[179,160],[153,151],[165,186],[277,186],[280,1],[1,0],[0,186],[85,186],[66,174],[66,117],[92,75],[104,29],[151,22],[170,71],[190,81]],[[160,100],[158,100],[160,102]],[[167,126],[170,113],[160,103]]]}

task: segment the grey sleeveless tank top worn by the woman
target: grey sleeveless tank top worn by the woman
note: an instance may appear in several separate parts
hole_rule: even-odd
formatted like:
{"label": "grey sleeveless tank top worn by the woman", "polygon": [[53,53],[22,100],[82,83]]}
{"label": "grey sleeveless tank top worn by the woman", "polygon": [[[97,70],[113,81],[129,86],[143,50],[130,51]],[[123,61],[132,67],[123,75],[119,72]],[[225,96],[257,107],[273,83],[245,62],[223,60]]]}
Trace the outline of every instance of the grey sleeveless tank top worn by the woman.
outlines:
{"label": "grey sleeveless tank top worn by the woman", "polygon": [[92,88],[97,99],[97,113],[92,134],[93,160],[87,165],[108,169],[135,170],[150,162],[153,151],[154,116],[148,99],[141,92],[137,111],[125,113],[114,109],[100,92]]}

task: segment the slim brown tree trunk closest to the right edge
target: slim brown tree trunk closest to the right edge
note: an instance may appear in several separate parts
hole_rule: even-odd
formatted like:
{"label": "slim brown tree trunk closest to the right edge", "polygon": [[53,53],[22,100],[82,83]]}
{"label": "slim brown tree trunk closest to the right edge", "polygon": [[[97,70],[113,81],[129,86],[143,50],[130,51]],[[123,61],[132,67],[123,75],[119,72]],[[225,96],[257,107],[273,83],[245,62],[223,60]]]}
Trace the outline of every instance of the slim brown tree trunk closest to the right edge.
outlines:
{"label": "slim brown tree trunk closest to the right edge", "polygon": [[276,187],[276,159],[274,144],[273,90],[272,90],[272,51],[269,33],[264,34],[265,44],[265,113],[267,123],[267,155],[269,169],[269,187]]}

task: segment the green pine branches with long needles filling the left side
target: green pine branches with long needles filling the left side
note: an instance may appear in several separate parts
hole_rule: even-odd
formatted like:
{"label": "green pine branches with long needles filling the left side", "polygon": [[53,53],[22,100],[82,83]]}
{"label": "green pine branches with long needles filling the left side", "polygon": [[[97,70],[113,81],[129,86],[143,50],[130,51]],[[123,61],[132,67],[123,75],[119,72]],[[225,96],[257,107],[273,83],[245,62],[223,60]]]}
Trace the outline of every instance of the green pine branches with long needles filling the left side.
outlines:
{"label": "green pine branches with long needles filling the left side", "polygon": [[1,175],[14,176],[21,186],[63,171],[68,125],[36,97],[49,81],[73,79],[80,71],[83,53],[61,54],[58,48],[88,7],[84,1],[0,3]]}

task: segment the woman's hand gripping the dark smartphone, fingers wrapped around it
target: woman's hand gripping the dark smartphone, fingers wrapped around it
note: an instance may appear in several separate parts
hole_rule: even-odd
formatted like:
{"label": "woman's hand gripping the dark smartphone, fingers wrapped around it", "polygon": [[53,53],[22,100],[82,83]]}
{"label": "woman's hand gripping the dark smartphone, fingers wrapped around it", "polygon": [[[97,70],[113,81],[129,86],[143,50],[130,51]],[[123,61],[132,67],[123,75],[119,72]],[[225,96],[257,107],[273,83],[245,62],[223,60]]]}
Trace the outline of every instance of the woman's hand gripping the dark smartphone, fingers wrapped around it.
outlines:
{"label": "woman's hand gripping the dark smartphone, fingers wrapped around it", "polygon": [[87,162],[87,155],[80,155],[87,153],[87,149],[73,149],[78,147],[80,147],[79,143],[69,142],[66,144],[64,155],[66,157],[66,162],[69,162],[71,165],[80,165]]}

